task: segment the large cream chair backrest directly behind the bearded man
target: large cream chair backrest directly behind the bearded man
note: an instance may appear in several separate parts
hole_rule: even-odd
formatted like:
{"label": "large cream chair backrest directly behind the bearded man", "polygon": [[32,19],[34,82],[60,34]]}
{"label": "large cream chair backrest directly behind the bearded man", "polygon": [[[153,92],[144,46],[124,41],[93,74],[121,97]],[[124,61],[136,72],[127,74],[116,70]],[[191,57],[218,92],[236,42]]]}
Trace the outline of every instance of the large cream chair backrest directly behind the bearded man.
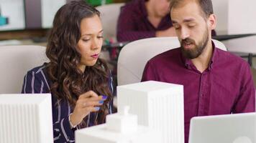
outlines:
{"label": "large cream chair backrest directly behind the bearded man", "polygon": [[[227,51],[221,41],[213,40],[216,47]],[[117,84],[140,82],[147,61],[153,56],[180,46],[178,37],[154,37],[132,41],[120,51],[117,61]]]}

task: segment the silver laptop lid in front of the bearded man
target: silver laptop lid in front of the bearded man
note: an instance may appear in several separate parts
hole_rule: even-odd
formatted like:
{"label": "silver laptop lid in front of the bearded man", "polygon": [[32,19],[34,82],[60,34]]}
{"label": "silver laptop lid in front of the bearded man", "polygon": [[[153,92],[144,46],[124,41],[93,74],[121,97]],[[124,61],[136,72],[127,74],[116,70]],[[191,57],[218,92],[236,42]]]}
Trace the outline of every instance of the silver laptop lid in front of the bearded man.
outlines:
{"label": "silver laptop lid in front of the bearded man", "polygon": [[189,143],[255,143],[255,122],[255,112],[193,117]]}

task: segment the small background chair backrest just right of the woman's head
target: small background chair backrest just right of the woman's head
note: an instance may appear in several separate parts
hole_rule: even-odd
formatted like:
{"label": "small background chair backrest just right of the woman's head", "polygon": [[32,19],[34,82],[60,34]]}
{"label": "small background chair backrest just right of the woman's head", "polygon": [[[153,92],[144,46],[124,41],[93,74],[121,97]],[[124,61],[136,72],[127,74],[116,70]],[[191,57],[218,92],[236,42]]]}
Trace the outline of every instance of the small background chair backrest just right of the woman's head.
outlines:
{"label": "small background chair backrest just right of the woman's head", "polygon": [[105,39],[113,39],[116,41],[116,25],[121,6],[124,6],[124,3],[106,4],[96,7],[96,9],[101,12],[101,21]]}

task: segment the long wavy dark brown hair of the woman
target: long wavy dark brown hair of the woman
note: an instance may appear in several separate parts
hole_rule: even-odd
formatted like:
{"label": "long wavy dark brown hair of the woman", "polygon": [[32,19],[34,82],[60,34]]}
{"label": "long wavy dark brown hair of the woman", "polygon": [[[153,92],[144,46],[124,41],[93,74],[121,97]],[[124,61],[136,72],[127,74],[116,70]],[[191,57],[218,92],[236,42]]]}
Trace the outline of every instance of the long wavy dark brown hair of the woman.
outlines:
{"label": "long wavy dark brown hair of the woman", "polygon": [[106,103],[112,98],[109,89],[110,72],[103,59],[98,59],[93,66],[86,66],[82,72],[78,69],[81,53],[77,48],[81,39],[82,19],[96,15],[100,15],[99,11],[85,1],[71,1],[57,11],[48,37],[46,55],[50,62],[46,70],[51,81],[52,95],[60,102],[66,100],[71,107],[75,107],[79,95],[90,90],[108,96],[96,121],[96,124],[101,124],[108,114]]}

